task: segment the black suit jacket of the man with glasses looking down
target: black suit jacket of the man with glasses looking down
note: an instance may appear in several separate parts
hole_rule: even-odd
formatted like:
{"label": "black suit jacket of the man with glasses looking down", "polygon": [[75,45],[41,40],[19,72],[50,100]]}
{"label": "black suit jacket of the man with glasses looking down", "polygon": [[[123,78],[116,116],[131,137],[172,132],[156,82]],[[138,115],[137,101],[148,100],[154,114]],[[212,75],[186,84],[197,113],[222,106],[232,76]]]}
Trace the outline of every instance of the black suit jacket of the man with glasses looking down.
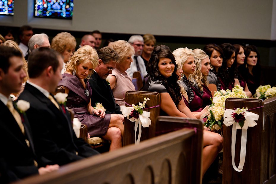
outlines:
{"label": "black suit jacket of the man with glasses looking down", "polygon": [[89,84],[92,88],[92,106],[95,106],[95,104],[99,102],[102,103],[106,109],[106,114],[122,114],[120,106],[115,103],[110,85],[107,84],[105,79],[100,78],[99,75],[94,72],[89,79]]}

